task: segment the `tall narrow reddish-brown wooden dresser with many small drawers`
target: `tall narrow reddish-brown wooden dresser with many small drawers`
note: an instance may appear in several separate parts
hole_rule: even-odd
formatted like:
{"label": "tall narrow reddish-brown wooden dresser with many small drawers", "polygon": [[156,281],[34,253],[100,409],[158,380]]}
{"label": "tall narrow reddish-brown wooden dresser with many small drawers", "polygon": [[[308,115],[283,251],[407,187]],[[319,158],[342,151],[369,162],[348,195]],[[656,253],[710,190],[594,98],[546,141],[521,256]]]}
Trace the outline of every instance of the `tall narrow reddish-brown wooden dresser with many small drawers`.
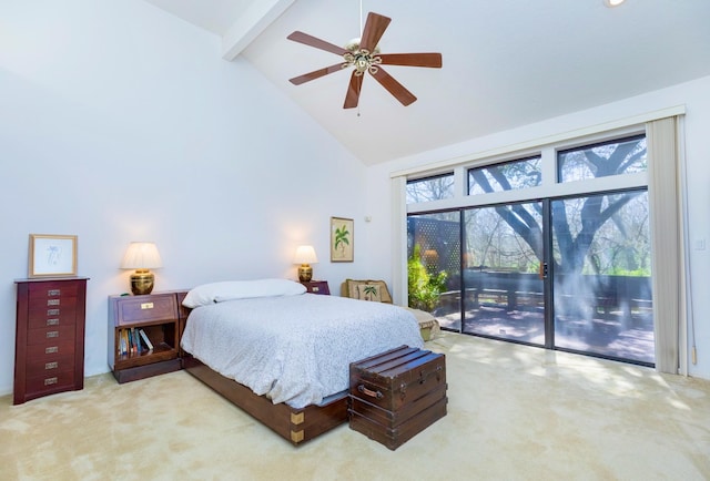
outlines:
{"label": "tall narrow reddish-brown wooden dresser with many small drawers", "polygon": [[87,280],[16,279],[14,405],[83,389]]}

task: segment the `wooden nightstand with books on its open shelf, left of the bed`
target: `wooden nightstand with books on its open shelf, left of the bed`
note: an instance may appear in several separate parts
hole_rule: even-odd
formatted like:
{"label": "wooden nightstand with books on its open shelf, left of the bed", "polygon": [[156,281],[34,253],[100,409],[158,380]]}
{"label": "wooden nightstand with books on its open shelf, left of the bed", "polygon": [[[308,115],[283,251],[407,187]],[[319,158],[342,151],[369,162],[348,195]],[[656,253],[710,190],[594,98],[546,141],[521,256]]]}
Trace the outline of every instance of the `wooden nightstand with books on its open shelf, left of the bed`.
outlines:
{"label": "wooden nightstand with books on its open shelf, left of the bed", "polygon": [[109,297],[109,367],[120,383],[181,369],[180,296]]}

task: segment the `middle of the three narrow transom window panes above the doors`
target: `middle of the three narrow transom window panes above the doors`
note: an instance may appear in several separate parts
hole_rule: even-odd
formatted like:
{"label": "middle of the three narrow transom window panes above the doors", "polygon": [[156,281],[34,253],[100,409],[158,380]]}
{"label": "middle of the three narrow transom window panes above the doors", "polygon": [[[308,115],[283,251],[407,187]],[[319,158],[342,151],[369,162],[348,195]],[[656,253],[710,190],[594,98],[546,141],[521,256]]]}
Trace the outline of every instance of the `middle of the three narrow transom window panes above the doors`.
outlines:
{"label": "middle of the three narrow transom window panes above the doors", "polygon": [[540,157],[468,170],[468,195],[540,185]]}

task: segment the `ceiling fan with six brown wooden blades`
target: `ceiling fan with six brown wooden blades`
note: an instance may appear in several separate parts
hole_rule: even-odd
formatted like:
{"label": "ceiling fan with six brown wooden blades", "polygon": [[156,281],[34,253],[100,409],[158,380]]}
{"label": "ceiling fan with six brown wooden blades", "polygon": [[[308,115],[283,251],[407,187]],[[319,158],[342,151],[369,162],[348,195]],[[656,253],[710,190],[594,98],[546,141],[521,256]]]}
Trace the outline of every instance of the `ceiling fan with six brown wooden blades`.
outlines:
{"label": "ceiling fan with six brown wooden blades", "polygon": [[392,75],[389,75],[382,65],[405,65],[405,66],[428,66],[440,68],[442,54],[440,53],[379,53],[377,43],[383,33],[389,25],[390,18],[381,16],[378,13],[369,12],[367,14],[367,21],[363,29],[363,34],[359,39],[351,41],[345,48],[334,45],[333,43],[317,39],[307,33],[295,31],[287,37],[288,40],[303,43],[316,49],[325,50],[326,52],[342,55],[345,62],[336,63],[324,69],[318,69],[313,72],[305,73],[303,75],[294,76],[290,79],[290,82],[295,85],[310,82],[311,80],[320,79],[328,73],[337,72],[347,68],[354,68],[351,74],[351,82],[345,95],[345,103],[343,109],[353,109],[357,106],[359,100],[359,92],[363,88],[363,78],[365,72],[368,72],[382,86],[384,86],[395,99],[402,102],[403,105],[409,105],[417,100],[412,92],[409,92],[403,84],[397,82]]}

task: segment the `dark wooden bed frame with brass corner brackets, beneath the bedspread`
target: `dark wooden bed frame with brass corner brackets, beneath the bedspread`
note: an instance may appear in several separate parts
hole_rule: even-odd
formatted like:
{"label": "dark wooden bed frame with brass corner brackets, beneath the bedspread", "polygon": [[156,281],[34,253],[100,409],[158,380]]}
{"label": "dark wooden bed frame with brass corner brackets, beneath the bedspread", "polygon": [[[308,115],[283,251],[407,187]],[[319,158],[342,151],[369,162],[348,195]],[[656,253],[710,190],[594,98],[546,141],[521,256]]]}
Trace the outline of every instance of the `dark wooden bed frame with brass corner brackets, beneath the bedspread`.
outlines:
{"label": "dark wooden bed frame with brass corner brackets, beneath the bedspread", "polygon": [[[191,310],[182,305],[186,294],[186,291],[178,294],[180,337],[182,337]],[[284,402],[274,405],[265,396],[257,396],[246,386],[212,370],[189,352],[184,352],[182,349],[180,352],[183,369],[294,446],[308,441],[347,421],[347,392],[343,392],[342,396],[322,406],[310,405],[296,409]]]}

